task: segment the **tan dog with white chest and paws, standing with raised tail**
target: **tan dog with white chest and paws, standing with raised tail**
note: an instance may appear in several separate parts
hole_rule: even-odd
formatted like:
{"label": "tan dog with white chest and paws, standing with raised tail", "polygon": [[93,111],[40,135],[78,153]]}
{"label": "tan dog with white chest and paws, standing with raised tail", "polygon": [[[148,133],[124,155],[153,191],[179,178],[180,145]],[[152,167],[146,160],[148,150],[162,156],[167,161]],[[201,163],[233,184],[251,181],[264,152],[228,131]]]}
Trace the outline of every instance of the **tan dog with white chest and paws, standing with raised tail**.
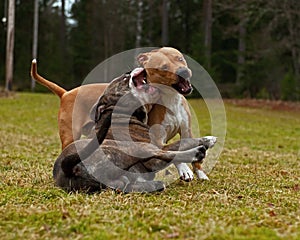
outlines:
{"label": "tan dog with white chest and paws, standing with raised tail", "polygon": [[[169,89],[162,97],[162,105],[154,105],[149,113],[148,124],[153,126],[152,137],[157,146],[163,146],[177,133],[182,138],[191,138],[190,110],[186,99],[181,94],[192,91],[190,84],[191,70],[183,55],[176,49],[164,47],[137,57],[139,64],[145,68],[150,83],[163,84]],[[108,84],[88,84],[66,91],[37,73],[36,61],[32,61],[32,78],[48,87],[61,99],[58,113],[59,135],[62,149],[75,140],[80,139],[85,126],[91,124],[89,111]],[[77,101],[79,96],[84,101]],[[180,93],[180,94],[178,94]],[[160,127],[158,127],[160,126]],[[163,131],[162,131],[163,130]],[[194,170],[200,179],[208,179],[200,165],[194,164]],[[184,180],[193,179],[193,172],[187,164],[176,165],[179,175]]]}

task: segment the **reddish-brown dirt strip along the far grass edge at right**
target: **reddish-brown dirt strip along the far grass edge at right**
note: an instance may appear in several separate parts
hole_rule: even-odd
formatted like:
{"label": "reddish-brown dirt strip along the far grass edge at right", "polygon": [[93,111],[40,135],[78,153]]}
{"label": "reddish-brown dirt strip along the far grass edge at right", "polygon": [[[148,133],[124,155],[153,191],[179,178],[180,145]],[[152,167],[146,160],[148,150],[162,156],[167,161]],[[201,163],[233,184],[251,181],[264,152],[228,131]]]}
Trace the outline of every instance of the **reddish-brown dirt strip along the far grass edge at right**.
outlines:
{"label": "reddish-brown dirt strip along the far grass edge at right", "polygon": [[224,102],[241,107],[300,112],[300,102],[273,101],[264,99],[226,99]]}

